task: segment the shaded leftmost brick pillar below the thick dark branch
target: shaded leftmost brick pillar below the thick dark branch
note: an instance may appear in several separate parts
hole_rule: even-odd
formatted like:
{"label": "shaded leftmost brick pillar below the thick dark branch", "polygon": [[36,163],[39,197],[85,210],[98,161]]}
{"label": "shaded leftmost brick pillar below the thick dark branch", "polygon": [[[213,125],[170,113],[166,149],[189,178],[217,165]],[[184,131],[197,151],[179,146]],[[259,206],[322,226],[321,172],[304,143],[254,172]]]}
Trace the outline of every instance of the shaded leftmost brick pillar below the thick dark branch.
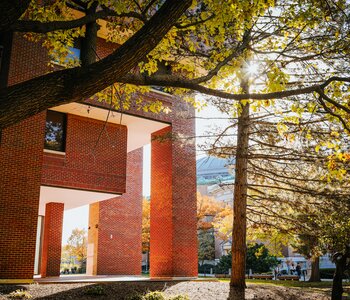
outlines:
{"label": "shaded leftmost brick pillar below the thick dark branch", "polygon": [[2,130],[0,140],[0,281],[32,280],[45,113]]}

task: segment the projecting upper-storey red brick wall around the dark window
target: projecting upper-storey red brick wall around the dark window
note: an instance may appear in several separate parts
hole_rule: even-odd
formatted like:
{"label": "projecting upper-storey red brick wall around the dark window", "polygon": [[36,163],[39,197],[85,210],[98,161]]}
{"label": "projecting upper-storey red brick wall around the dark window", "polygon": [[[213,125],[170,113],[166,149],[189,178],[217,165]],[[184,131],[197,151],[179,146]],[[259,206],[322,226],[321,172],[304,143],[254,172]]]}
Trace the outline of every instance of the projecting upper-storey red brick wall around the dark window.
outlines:
{"label": "projecting upper-storey red brick wall around the dark window", "polygon": [[104,125],[69,114],[66,154],[44,153],[42,184],[123,193],[127,128],[109,123],[103,130]]}

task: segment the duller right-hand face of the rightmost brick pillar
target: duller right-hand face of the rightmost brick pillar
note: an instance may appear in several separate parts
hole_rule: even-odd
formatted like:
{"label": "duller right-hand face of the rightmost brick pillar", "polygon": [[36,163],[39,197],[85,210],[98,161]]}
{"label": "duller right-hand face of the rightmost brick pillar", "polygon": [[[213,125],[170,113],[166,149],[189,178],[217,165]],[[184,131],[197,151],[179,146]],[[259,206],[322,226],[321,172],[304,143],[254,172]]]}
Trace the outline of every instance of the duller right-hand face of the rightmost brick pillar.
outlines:
{"label": "duller right-hand face of the rightmost brick pillar", "polygon": [[[173,141],[173,272],[174,276],[198,274],[197,194],[194,108],[178,103],[174,110]],[[186,139],[188,138],[188,139]]]}

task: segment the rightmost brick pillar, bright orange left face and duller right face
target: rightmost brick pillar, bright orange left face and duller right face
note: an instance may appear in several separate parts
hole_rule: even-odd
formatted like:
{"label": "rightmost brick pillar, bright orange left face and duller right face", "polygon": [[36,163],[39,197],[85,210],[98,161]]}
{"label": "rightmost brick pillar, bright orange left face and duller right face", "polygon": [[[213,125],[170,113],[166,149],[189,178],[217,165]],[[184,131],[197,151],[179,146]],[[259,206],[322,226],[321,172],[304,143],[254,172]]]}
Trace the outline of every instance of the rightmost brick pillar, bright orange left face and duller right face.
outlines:
{"label": "rightmost brick pillar, bright orange left face and duller right face", "polygon": [[[181,112],[179,110],[178,112]],[[152,136],[194,135],[191,118],[173,118],[172,127]],[[175,135],[174,135],[175,137]],[[152,141],[151,277],[196,277],[197,201],[193,140]]]}

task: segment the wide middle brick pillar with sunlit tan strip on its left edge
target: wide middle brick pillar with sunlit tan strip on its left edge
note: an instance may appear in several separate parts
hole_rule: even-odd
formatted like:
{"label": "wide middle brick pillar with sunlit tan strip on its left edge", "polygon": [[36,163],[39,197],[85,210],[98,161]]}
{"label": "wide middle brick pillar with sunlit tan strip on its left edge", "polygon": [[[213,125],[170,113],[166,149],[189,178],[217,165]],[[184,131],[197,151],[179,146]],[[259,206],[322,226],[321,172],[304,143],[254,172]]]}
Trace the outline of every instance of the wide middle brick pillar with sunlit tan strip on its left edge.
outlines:
{"label": "wide middle brick pillar with sunlit tan strip on its left edge", "polygon": [[128,153],[126,193],[90,205],[89,275],[140,275],[142,148]]}

